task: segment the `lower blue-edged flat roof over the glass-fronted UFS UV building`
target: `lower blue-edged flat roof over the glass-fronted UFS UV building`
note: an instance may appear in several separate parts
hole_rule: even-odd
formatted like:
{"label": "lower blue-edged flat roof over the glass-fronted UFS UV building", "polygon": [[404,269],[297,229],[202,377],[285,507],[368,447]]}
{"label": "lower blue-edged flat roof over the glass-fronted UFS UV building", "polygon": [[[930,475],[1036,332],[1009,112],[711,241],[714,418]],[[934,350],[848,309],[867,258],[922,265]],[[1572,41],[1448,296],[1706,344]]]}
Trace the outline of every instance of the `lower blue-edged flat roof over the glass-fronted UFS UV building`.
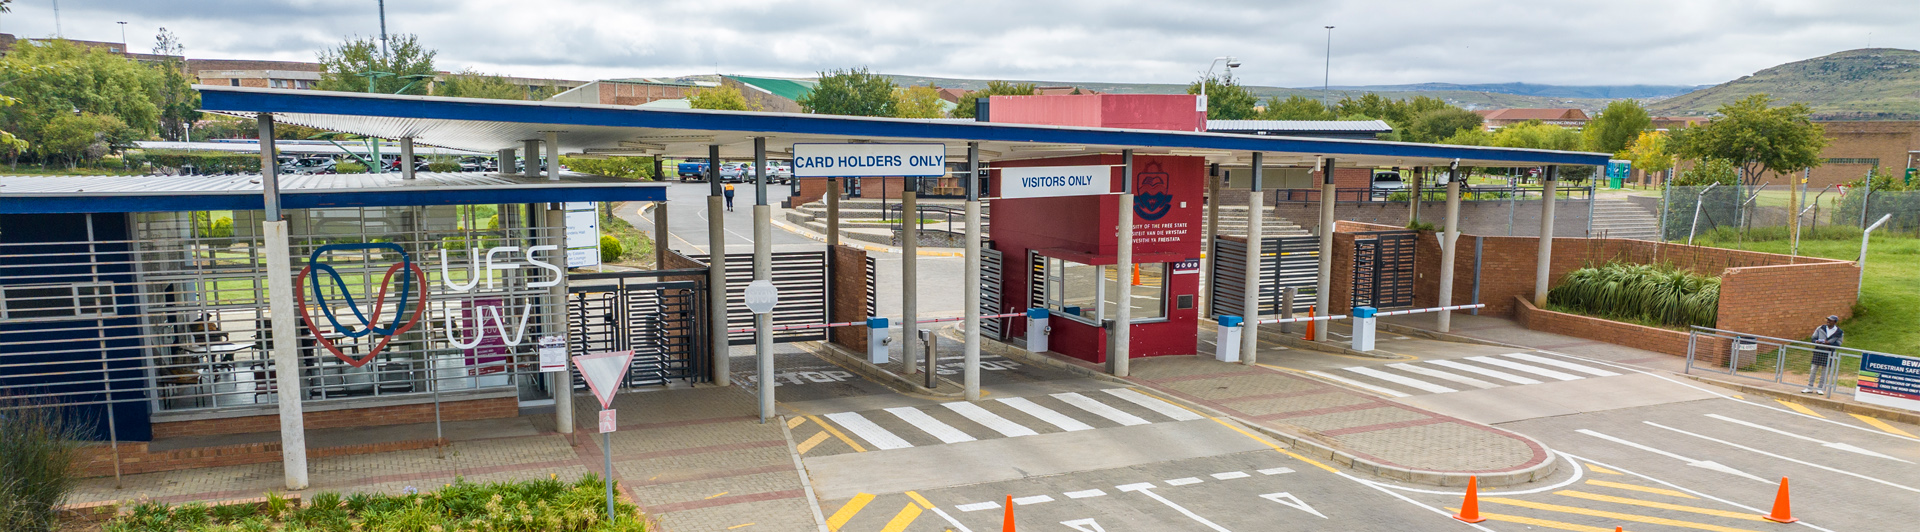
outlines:
{"label": "lower blue-edged flat roof over the glass-fronted UFS UV building", "polygon": [[[259,175],[0,177],[0,213],[156,213],[261,209]],[[482,206],[540,202],[664,202],[664,184],[563,175],[561,181],[493,173],[282,175],[288,209]]]}

